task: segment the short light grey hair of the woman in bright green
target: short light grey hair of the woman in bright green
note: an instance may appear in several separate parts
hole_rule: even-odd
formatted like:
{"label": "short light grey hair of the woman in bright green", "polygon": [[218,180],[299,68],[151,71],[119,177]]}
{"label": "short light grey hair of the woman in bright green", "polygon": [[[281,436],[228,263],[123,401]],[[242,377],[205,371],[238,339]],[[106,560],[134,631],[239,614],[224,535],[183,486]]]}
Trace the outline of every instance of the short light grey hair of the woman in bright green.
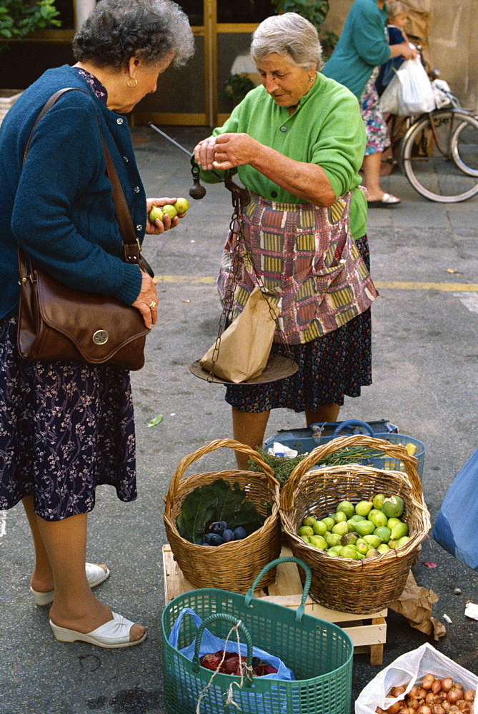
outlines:
{"label": "short light grey hair of the woman in bright green", "polygon": [[269,54],[287,57],[302,69],[322,69],[322,47],[312,22],[297,12],[267,17],[252,35],[251,56],[254,62]]}

